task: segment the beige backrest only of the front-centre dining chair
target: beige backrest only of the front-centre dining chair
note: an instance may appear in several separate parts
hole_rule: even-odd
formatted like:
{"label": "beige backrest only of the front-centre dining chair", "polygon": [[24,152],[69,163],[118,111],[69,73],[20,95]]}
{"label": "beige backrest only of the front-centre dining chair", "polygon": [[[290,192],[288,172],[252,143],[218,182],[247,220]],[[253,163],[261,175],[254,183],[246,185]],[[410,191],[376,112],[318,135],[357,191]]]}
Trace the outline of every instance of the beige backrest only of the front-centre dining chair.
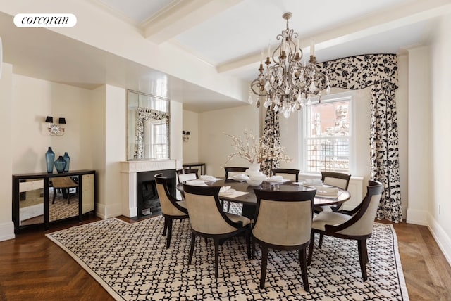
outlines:
{"label": "beige backrest only of the front-centre dining chair", "polygon": [[316,190],[254,191],[257,212],[252,235],[255,238],[282,246],[302,245],[310,240]]}

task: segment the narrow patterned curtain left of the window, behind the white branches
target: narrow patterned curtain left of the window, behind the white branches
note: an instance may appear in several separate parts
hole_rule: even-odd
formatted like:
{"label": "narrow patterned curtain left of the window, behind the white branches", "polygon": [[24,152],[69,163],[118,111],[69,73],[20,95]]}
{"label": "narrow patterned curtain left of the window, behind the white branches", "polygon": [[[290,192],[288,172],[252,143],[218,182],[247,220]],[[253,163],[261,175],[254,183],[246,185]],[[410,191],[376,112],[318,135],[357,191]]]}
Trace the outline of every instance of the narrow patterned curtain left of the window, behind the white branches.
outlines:
{"label": "narrow patterned curtain left of the window, behind the white branches", "polygon": [[[266,146],[271,146],[273,150],[280,148],[280,127],[279,114],[273,110],[266,110],[265,127],[263,130],[263,141]],[[279,167],[279,160],[266,159],[260,163],[261,172],[266,176],[271,176],[271,169]]]}

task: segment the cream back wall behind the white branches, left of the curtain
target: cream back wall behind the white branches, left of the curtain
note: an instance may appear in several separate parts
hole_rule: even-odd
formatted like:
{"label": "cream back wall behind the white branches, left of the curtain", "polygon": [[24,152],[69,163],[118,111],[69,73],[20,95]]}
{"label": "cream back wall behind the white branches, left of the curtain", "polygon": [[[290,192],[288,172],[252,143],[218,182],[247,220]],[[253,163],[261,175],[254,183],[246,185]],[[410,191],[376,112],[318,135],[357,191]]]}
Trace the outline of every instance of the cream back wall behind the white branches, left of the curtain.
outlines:
{"label": "cream back wall behind the white branches, left of the curtain", "polygon": [[[261,126],[259,114],[254,105],[199,113],[199,161],[206,163],[206,174],[224,177],[223,167],[234,150],[232,140],[223,133],[243,136],[247,130],[258,136]],[[227,165],[247,167],[249,163],[234,158]]]}

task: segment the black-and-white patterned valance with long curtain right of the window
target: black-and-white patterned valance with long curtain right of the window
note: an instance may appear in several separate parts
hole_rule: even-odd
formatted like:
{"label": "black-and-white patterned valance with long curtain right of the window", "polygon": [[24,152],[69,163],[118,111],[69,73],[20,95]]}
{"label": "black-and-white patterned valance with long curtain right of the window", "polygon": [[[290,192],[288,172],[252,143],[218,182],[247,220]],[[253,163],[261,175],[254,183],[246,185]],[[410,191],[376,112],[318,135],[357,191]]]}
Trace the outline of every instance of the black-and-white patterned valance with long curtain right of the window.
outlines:
{"label": "black-and-white patterned valance with long curtain right of the window", "polygon": [[371,86],[371,179],[384,186],[376,217],[402,222],[395,90],[397,56],[367,54],[319,63],[330,87],[363,89]]}

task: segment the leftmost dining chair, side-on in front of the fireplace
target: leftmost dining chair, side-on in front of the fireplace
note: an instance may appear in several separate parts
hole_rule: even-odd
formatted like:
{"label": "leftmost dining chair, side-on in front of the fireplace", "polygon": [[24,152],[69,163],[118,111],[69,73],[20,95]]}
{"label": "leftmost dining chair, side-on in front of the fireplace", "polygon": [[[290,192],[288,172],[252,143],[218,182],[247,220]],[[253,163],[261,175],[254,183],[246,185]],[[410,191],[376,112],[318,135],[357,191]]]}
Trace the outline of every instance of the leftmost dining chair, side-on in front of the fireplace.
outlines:
{"label": "leftmost dining chair, side-on in front of the fireplace", "polygon": [[166,249],[169,248],[172,238],[173,219],[187,219],[188,210],[184,200],[177,200],[171,196],[168,188],[169,179],[163,177],[163,174],[154,176],[156,182],[156,192],[158,193],[161,204],[161,215],[164,217],[163,236],[166,237]]}

